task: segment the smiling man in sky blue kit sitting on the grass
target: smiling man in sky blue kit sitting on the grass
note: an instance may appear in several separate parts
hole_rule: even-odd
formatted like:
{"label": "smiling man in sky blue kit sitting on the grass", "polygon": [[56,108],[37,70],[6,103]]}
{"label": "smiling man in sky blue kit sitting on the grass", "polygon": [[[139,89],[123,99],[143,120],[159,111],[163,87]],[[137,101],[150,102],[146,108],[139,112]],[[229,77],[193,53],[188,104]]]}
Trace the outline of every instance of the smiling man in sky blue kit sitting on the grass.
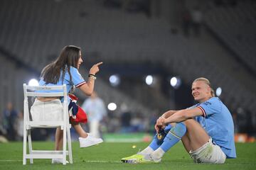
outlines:
{"label": "smiling man in sky blue kit sitting on the grass", "polygon": [[223,164],[226,158],[235,158],[233,119],[220,98],[215,97],[210,81],[194,80],[192,96],[198,104],[161,115],[156,120],[157,135],[149,147],[122,158],[122,162],[161,162],[164,153],[179,140],[196,163]]}

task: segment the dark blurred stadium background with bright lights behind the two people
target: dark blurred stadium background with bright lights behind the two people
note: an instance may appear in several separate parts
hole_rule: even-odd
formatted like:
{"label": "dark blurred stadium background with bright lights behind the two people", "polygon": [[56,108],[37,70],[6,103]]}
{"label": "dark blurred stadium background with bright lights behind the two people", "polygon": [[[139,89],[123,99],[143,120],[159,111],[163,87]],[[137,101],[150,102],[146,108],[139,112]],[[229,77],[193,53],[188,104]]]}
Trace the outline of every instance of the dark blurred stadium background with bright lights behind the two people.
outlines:
{"label": "dark blurred stadium background with bright lights behind the two people", "polygon": [[75,91],[89,116],[86,130],[153,133],[159,115],[194,104],[191,82],[206,77],[235,132],[256,135],[256,1],[1,0],[0,23],[0,135],[7,140],[22,139],[23,83],[38,80],[65,45],[82,48],[85,79],[104,62],[95,96]]}

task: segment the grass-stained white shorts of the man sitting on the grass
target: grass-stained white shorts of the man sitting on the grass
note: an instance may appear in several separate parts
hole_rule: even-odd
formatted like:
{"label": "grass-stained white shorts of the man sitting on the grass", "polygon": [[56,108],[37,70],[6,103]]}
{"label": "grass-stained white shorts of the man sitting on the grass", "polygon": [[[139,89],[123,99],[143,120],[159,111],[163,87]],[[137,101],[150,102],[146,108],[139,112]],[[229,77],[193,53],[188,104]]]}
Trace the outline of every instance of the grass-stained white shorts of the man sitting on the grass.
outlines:
{"label": "grass-stained white shorts of the man sitting on the grass", "polygon": [[189,154],[196,163],[224,164],[226,159],[225,153],[218,145],[213,144],[211,138],[203,147],[190,151]]}

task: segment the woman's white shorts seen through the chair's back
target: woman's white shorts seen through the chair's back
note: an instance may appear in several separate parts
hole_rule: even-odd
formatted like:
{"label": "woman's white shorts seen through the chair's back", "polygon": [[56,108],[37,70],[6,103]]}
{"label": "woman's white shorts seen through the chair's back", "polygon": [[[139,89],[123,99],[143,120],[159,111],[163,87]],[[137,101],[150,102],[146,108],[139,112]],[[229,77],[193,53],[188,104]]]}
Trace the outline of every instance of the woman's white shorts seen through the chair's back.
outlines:
{"label": "woman's white shorts seen through the chair's back", "polygon": [[33,121],[63,120],[63,104],[60,99],[53,101],[36,99],[31,106],[31,117]]}

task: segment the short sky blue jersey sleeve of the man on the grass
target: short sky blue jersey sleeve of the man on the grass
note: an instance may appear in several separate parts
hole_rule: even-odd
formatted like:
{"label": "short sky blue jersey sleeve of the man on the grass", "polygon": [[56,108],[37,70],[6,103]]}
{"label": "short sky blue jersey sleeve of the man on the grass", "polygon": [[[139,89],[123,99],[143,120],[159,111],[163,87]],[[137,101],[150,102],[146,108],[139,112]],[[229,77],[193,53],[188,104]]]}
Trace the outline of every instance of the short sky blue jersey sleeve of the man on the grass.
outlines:
{"label": "short sky blue jersey sleeve of the man on the grass", "polygon": [[208,117],[214,113],[220,113],[220,102],[217,100],[218,99],[208,100],[197,106],[203,112],[203,117]]}

